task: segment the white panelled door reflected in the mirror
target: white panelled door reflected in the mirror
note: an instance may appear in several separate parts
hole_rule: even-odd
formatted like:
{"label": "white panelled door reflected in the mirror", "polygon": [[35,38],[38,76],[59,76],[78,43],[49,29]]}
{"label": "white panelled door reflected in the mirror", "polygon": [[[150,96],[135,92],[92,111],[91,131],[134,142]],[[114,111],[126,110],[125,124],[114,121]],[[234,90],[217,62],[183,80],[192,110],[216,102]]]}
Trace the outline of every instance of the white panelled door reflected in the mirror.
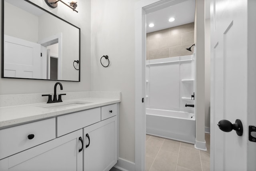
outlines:
{"label": "white panelled door reflected in the mirror", "polygon": [[4,35],[4,77],[41,79],[40,50],[40,44]]}

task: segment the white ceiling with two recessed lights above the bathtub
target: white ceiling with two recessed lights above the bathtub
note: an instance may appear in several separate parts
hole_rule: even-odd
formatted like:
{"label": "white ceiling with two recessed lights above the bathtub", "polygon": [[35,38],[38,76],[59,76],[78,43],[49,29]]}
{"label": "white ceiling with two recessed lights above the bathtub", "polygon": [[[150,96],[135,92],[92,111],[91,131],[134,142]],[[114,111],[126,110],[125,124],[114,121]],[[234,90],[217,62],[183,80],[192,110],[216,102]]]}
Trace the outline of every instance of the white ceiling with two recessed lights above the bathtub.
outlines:
{"label": "white ceiling with two recessed lights above the bathtub", "polygon": [[[194,22],[195,8],[196,0],[186,0],[174,6],[147,14],[147,33]],[[173,22],[168,21],[171,17],[175,18]],[[150,23],[154,23],[154,27],[148,27]]]}

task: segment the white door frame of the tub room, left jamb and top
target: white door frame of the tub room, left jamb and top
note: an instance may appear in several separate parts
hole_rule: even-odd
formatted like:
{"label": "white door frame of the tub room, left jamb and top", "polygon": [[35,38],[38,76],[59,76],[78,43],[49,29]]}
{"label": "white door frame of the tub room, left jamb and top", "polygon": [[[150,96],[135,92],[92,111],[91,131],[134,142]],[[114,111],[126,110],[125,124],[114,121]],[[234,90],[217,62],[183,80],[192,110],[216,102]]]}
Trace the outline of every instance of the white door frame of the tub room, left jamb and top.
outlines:
{"label": "white door frame of the tub room, left jamb and top", "polygon": [[146,14],[186,0],[140,0],[135,5],[135,171],[145,170]]}

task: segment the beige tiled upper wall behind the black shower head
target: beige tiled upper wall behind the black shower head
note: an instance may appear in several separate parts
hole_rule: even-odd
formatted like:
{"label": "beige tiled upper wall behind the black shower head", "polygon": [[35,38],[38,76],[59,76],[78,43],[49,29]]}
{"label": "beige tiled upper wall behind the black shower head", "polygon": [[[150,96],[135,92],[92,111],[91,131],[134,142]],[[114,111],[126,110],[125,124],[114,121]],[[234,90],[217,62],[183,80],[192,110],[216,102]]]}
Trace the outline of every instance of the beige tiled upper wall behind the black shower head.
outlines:
{"label": "beige tiled upper wall behind the black shower head", "polygon": [[147,60],[192,55],[194,22],[147,34]]}

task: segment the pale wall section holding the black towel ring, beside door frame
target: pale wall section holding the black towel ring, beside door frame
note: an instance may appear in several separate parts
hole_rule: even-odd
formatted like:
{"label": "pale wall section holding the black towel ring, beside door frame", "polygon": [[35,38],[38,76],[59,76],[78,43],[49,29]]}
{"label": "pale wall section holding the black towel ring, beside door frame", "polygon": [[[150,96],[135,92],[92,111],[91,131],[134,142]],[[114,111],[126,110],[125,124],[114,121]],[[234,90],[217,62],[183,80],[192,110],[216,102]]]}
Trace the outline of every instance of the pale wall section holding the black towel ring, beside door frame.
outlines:
{"label": "pale wall section holding the black towel ring, beside door frame", "polygon": [[[138,0],[92,0],[91,90],[121,91],[119,157],[135,158],[135,31],[134,9]],[[108,55],[110,66],[100,58]]]}

